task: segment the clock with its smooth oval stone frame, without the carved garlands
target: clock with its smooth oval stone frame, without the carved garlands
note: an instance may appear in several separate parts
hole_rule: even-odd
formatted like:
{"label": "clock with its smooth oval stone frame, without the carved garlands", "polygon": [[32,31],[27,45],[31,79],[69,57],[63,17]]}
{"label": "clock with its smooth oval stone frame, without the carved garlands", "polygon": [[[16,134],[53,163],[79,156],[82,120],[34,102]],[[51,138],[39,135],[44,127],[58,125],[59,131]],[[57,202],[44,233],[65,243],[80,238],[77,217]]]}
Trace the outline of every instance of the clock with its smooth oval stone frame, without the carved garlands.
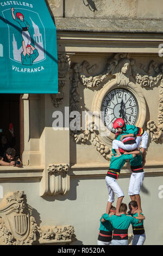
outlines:
{"label": "clock with its smooth oval stone frame, without the carved garlands", "polygon": [[127,86],[118,86],[115,79],[106,81],[96,92],[92,101],[92,113],[99,137],[110,147],[115,139],[112,127],[117,118],[124,119],[128,125],[143,127],[147,117],[146,101],[142,88],[133,82]]}

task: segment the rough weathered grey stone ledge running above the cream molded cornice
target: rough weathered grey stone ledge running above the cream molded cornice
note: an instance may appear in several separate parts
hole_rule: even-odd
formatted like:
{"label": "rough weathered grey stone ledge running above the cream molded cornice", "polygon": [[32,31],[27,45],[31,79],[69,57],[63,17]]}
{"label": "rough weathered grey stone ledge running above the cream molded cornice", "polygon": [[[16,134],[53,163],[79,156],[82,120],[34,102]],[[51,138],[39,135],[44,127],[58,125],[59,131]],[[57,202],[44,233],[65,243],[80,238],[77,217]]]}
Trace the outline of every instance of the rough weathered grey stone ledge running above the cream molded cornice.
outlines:
{"label": "rough weathered grey stone ledge running above the cream molded cornice", "polygon": [[163,20],[55,17],[57,31],[163,33]]}

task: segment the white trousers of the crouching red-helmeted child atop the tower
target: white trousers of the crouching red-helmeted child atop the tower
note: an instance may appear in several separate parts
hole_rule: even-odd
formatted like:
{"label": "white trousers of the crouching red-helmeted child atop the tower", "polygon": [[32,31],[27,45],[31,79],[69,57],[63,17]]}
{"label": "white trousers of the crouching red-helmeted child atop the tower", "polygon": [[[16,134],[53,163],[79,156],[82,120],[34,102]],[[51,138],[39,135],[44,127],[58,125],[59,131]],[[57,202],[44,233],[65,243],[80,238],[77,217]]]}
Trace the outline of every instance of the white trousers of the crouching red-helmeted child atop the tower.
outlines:
{"label": "white trousers of the crouching red-helmeted child atop the tower", "polygon": [[135,138],[135,141],[136,141],[136,143],[134,143],[134,144],[124,144],[122,141],[118,141],[117,139],[114,139],[112,141],[112,148],[113,149],[121,148],[123,150],[129,150],[129,151],[134,150],[134,149],[139,148],[139,145],[140,145],[140,142],[141,142],[141,137],[137,136]]}

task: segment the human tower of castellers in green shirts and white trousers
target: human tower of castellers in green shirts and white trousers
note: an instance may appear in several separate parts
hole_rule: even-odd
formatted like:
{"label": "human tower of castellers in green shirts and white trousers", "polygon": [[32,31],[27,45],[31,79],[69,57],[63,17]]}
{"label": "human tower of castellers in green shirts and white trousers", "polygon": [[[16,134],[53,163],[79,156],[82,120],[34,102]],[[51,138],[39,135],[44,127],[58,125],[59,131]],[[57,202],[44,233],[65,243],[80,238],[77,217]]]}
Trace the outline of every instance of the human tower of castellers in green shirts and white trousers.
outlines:
{"label": "human tower of castellers in green shirts and white trousers", "polygon": [[[109,170],[105,177],[109,192],[106,213],[100,219],[98,245],[128,245],[128,228],[133,227],[132,245],[143,245],[146,240],[142,214],[140,188],[145,176],[143,166],[146,163],[146,149],[148,133],[141,127],[127,125],[122,118],[114,121],[116,130],[112,141],[112,157]],[[127,205],[122,203],[124,193],[117,183],[121,168],[129,161],[131,176],[128,188],[129,211]],[[112,206],[117,195],[116,207]]]}

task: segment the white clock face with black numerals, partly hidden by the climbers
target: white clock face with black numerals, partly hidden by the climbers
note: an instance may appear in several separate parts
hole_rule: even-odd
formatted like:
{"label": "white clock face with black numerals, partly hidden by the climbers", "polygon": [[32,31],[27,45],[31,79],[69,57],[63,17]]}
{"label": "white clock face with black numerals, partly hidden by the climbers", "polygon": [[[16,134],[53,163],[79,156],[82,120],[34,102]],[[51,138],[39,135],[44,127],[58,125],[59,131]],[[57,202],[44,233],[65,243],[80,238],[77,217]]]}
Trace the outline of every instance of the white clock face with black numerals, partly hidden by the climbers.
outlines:
{"label": "white clock face with black numerals, partly hidden by the climbers", "polygon": [[102,102],[102,119],[108,130],[115,132],[112,127],[117,118],[124,119],[128,125],[134,125],[139,115],[136,97],[129,90],[118,88],[106,94]]}

